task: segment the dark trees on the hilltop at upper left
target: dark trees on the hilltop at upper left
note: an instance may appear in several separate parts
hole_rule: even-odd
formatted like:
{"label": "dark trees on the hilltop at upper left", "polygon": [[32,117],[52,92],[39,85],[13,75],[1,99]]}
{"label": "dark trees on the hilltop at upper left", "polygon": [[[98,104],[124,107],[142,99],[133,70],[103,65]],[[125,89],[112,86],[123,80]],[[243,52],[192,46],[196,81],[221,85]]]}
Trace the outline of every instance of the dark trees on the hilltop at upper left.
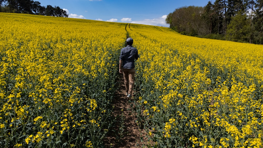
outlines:
{"label": "dark trees on the hilltop at upper left", "polygon": [[38,1],[32,0],[0,0],[0,12],[25,13],[43,16],[68,17],[66,11],[59,6],[41,6]]}

